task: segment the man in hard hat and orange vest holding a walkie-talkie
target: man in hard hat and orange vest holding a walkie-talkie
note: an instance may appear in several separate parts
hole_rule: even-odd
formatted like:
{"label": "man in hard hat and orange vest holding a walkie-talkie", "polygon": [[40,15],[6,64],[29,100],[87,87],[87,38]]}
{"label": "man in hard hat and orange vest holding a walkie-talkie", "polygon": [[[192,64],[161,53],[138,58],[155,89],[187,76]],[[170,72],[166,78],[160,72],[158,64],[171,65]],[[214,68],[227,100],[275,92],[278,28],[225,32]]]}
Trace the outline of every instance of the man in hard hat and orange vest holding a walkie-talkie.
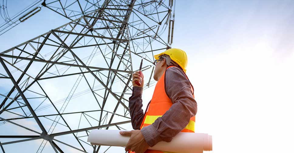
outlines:
{"label": "man in hard hat and orange vest holding a walkie-talkie", "polygon": [[[144,77],[133,74],[133,93],[129,98],[132,131],[120,132],[130,136],[125,151],[135,153],[164,153],[149,150],[160,141],[170,142],[179,132],[195,132],[197,103],[193,86],[186,76],[187,55],[171,48],[155,55],[154,80],[158,81],[145,113],[142,110]],[[135,81],[142,79],[141,86]]]}

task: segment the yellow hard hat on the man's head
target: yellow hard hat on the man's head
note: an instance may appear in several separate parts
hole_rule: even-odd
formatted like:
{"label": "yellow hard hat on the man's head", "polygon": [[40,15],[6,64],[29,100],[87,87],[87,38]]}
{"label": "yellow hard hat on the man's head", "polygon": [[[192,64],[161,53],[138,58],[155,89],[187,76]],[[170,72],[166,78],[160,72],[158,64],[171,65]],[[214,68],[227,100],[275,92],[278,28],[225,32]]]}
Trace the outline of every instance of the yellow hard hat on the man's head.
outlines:
{"label": "yellow hard hat on the man's head", "polygon": [[184,70],[186,73],[186,67],[188,65],[188,57],[184,50],[177,49],[177,48],[170,48],[160,54],[154,55],[154,58],[158,60],[161,55],[166,54],[170,57],[171,60],[179,64],[179,66]]}

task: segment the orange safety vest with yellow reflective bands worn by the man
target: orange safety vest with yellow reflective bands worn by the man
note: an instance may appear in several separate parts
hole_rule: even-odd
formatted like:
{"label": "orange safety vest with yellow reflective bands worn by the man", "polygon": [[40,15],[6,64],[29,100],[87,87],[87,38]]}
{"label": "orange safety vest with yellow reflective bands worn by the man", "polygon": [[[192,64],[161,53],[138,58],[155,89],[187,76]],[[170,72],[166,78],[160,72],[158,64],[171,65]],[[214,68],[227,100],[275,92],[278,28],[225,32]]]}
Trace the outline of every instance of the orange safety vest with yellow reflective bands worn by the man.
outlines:
{"label": "orange safety vest with yellow reflective bands worn by the man", "polygon": [[[175,66],[169,66],[166,68],[166,70],[170,67],[175,67]],[[157,118],[161,117],[173,105],[171,99],[168,97],[165,91],[165,72],[166,71],[164,71],[164,73],[162,74],[162,77],[156,83],[152,99],[147,106],[147,109],[145,111],[145,116],[141,123],[140,129],[148,125],[151,125]],[[187,76],[186,78],[188,79]],[[190,82],[190,85],[191,85],[191,92],[194,97],[194,89],[191,82]],[[190,118],[190,122],[181,132],[195,132],[195,116]],[[128,152],[135,153],[130,150]],[[147,149],[145,153],[169,153],[169,152]]]}

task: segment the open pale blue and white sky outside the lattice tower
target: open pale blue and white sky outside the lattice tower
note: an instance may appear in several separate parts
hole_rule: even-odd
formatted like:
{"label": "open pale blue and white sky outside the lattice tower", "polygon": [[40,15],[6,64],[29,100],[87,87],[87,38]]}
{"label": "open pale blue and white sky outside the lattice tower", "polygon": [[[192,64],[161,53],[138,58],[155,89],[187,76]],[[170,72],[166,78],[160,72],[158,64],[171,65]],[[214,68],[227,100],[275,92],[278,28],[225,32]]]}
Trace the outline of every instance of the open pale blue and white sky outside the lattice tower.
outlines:
{"label": "open pale blue and white sky outside the lattice tower", "polygon": [[[13,1],[9,12],[31,2]],[[293,6],[291,0],[176,1],[172,47],[188,54],[196,131],[213,136],[210,152],[294,151]],[[42,8],[0,36],[0,52],[67,22]],[[144,90],[144,107],[153,89]]]}

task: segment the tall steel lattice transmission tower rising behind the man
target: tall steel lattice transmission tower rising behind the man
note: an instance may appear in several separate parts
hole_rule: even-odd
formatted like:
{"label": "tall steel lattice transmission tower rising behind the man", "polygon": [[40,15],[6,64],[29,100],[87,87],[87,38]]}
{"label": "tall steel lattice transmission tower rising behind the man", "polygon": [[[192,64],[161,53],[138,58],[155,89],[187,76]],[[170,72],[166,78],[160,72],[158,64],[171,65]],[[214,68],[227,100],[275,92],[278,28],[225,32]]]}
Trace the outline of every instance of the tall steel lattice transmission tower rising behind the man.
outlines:
{"label": "tall steel lattice transmission tower rising behind the man", "polygon": [[131,128],[132,73],[143,57],[144,88],[155,84],[153,53],[172,43],[173,1],[41,5],[71,21],[1,52],[0,150],[26,144],[27,152],[113,152],[90,145],[87,135]]}

